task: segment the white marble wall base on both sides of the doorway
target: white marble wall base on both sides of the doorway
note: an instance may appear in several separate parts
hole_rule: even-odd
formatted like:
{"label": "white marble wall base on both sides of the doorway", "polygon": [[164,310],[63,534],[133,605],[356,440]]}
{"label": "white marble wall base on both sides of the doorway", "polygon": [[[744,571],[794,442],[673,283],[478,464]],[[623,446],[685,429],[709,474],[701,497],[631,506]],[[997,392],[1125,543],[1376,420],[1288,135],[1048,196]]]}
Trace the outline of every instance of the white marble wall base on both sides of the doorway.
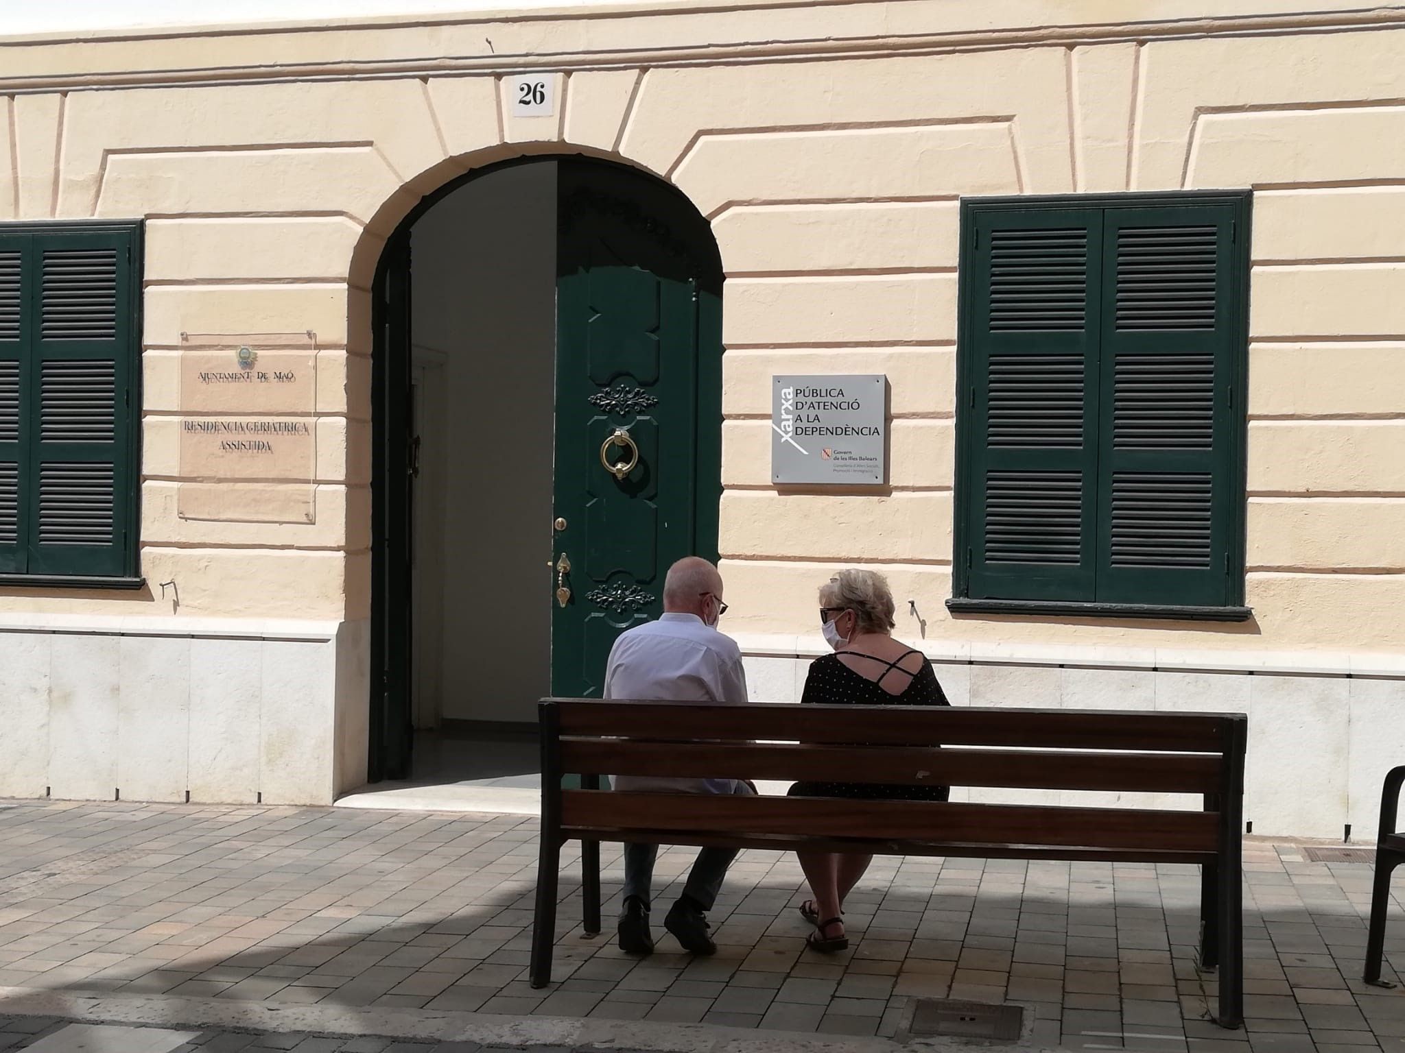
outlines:
{"label": "white marble wall base on both sides of the doorway", "polygon": [[[365,622],[183,618],[155,632],[150,619],[86,629],[72,616],[32,621],[0,619],[0,797],[330,804],[365,782]],[[752,696],[798,701],[819,647],[808,637],[742,643]],[[1405,675],[1385,668],[1391,656],[1367,656],[1352,673],[1357,656],[1347,671],[1311,654],[1283,671],[1234,667],[1235,651],[1217,653],[1215,668],[1118,654],[1055,663],[1045,649],[967,649],[934,658],[955,705],[1248,713],[1253,833],[1340,838],[1350,826],[1353,838],[1370,837],[1381,778],[1405,762]]]}

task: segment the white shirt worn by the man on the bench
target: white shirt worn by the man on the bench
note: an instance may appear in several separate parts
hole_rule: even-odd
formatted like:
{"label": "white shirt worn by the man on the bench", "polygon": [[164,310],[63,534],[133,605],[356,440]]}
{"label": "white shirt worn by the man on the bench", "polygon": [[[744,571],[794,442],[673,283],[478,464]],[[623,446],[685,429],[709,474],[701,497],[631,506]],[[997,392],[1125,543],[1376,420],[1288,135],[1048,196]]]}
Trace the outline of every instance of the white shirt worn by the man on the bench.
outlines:
{"label": "white shirt worn by the man on the bench", "polygon": [[[606,698],[641,702],[746,702],[742,649],[702,619],[663,614],[620,635],[606,665]],[[698,729],[702,731],[705,729]],[[615,775],[620,790],[672,793],[733,793],[735,779]]]}

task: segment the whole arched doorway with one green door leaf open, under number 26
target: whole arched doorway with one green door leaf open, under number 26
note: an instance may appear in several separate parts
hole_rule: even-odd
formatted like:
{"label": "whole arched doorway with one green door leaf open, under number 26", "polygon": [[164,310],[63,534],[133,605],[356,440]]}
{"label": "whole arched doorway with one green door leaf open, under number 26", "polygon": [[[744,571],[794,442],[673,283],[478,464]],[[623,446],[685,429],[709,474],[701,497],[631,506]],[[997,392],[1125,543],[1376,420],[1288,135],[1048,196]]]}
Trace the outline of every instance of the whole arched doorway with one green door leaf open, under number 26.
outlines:
{"label": "whole arched doorway with one green door leaf open, under number 26", "polygon": [[663,571],[717,556],[722,268],[677,190],[530,157],[426,198],[372,289],[371,781],[416,729],[599,695]]}

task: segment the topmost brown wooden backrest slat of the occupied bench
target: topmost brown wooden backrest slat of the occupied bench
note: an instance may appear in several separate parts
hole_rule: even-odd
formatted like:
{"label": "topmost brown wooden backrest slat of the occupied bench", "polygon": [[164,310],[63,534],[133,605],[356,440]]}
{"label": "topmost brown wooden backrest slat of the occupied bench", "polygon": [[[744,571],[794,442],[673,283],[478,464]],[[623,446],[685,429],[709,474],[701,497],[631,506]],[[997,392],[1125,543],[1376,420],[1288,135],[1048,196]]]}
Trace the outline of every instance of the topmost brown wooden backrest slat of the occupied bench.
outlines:
{"label": "topmost brown wooden backrest slat of the occupied bench", "polygon": [[[871,746],[1019,746],[1156,753],[1222,753],[1239,713],[1138,713],[1121,710],[1009,709],[968,706],[806,706],[753,702],[556,702],[561,733],[667,741],[698,739],[794,739]],[[677,710],[686,706],[686,715]],[[822,719],[821,719],[822,717]]]}

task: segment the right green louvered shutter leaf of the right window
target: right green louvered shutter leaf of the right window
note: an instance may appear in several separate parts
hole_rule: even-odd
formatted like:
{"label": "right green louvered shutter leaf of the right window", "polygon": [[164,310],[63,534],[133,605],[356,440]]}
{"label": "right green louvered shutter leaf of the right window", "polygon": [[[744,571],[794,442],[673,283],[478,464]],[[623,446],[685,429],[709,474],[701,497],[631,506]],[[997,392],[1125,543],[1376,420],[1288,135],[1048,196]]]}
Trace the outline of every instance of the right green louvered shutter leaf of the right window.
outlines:
{"label": "right green louvered shutter leaf of the right window", "polygon": [[1234,212],[1104,213],[1100,602],[1231,602]]}

